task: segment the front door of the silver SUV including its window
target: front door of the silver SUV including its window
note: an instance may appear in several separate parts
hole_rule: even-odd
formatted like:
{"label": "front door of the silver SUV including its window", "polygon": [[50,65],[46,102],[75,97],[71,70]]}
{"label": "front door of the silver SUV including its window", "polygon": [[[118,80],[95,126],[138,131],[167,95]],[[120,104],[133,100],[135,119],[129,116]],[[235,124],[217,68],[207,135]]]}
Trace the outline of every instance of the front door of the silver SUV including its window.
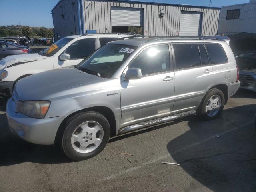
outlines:
{"label": "front door of the silver SUV including its window", "polygon": [[126,68],[140,68],[142,78],[121,82],[122,126],[170,115],[174,104],[174,72],[170,45],[142,50]]}

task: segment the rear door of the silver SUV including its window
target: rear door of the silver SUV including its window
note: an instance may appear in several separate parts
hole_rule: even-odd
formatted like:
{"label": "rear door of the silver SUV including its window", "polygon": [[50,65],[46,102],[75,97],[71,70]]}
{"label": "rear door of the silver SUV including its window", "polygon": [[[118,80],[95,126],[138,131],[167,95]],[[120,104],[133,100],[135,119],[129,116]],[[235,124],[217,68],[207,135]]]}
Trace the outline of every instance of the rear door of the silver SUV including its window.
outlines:
{"label": "rear door of the silver SUV including its window", "polygon": [[204,44],[172,44],[175,68],[173,110],[193,110],[199,106],[214,81]]}

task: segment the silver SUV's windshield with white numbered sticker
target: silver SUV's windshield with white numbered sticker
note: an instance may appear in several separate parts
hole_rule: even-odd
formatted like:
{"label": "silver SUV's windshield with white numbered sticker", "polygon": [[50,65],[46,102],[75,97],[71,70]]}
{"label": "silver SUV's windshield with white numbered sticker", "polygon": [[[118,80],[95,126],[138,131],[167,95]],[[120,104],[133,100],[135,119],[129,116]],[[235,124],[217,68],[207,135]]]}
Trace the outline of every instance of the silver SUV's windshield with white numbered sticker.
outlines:
{"label": "silver SUV's windshield with white numbered sticker", "polygon": [[78,67],[85,72],[111,78],[136,48],[136,46],[129,45],[106,44]]}

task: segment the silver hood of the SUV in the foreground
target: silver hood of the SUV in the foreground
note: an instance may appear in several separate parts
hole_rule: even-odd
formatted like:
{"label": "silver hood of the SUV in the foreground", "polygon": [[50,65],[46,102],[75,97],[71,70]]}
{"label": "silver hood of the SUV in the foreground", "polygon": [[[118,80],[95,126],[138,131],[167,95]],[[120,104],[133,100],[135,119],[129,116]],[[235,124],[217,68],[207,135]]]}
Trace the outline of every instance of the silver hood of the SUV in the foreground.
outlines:
{"label": "silver hood of the SUV in the foreground", "polygon": [[19,80],[14,92],[19,100],[47,100],[63,90],[93,84],[102,79],[74,67],[59,68]]}

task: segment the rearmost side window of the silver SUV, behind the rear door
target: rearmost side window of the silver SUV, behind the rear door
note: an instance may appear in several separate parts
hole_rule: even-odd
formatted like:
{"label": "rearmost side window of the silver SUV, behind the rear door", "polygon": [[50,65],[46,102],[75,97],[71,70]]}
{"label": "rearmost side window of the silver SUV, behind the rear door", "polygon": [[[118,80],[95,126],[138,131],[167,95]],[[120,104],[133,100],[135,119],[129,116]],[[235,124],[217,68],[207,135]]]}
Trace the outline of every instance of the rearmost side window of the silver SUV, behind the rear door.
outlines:
{"label": "rearmost side window of the silver SUV, behind the rear door", "polygon": [[226,54],[220,44],[205,44],[210,64],[222,64],[227,62]]}

